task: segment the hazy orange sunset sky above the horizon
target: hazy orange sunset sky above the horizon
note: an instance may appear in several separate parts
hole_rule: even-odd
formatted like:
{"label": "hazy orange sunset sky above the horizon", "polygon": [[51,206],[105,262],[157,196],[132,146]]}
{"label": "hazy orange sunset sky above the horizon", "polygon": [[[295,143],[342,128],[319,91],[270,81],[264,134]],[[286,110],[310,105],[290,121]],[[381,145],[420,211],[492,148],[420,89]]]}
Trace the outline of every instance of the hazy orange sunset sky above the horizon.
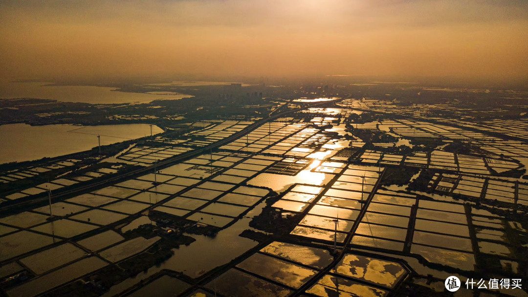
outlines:
{"label": "hazy orange sunset sky above the horizon", "polygon": [[528,1],[0,1],[0,80],[528,80]]}

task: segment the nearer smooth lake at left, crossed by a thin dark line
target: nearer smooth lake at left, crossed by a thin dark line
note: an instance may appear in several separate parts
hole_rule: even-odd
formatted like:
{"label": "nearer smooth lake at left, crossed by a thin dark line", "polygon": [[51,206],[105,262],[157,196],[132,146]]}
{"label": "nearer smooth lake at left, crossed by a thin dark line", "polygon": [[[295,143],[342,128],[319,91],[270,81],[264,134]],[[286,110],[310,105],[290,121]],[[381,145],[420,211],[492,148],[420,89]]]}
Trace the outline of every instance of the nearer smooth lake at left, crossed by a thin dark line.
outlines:
{"label": "nearer smooth lake at left, crossed by a thin dark line", "polygon": [[[152,127],[153,134],[161,132],[163,132],[161,128]],[[90,150],[98,145],[97,135],[101,135],[101,145],[107,145],[148,136],[150,125],[1,125],[0,164],[39,160],[43,157]]]}

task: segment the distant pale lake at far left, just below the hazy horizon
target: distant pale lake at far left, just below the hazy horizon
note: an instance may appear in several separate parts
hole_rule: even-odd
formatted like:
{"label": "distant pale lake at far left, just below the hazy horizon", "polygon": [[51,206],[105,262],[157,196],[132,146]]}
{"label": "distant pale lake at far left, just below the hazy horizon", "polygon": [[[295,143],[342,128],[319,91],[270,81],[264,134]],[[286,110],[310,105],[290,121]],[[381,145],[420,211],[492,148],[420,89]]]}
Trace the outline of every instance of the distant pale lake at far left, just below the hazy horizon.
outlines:
{"label": "distant pale lake at far left, just below the hazy horizon", "polygon": [[184,94],[146,94],[115,91],[93,86],[49,86],[48,82],[1,82],[0,98],[40,98],[90,104],[149,103],[153,100],[177,100]]}

